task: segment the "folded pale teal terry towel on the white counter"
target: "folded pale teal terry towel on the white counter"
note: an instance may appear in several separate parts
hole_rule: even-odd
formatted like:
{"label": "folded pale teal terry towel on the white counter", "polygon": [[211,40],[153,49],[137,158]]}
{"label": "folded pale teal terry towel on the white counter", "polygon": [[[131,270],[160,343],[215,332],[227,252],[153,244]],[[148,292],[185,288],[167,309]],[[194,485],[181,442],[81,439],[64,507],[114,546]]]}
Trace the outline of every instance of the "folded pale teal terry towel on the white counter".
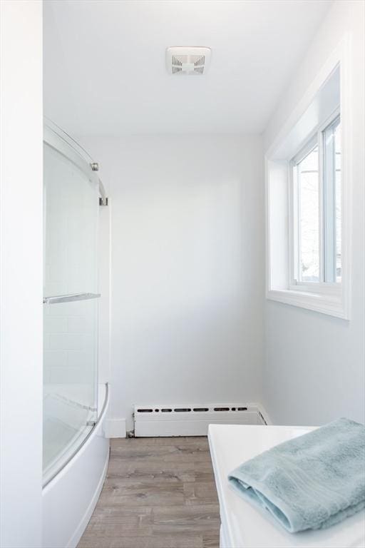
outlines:
{"label": "folded pale teal terry towel on the white counter", "polygon": [[330,527],[365,507],[364,425],[330,422],[244,462],[228,480],[289,532]]}

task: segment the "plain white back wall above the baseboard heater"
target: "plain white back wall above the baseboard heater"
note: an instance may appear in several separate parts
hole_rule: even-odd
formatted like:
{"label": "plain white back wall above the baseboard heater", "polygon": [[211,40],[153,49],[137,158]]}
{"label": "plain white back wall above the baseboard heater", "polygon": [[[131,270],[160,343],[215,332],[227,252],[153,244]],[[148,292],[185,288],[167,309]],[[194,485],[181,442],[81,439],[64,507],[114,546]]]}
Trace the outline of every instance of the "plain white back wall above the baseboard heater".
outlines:
{"label": "plain white back wall above the baseboard heater", "polygon": [[261,139],[81,142],[110,196],[112,417],[261,400]]}

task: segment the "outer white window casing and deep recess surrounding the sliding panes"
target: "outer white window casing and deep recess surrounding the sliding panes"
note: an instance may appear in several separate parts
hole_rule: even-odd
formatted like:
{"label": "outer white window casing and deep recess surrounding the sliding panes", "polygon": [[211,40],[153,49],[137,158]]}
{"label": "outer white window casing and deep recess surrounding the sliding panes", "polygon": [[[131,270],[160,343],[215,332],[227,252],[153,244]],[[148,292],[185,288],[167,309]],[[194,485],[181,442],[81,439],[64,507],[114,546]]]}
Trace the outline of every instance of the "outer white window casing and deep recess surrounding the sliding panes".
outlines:
{"label": "outer white window casing and deep recess surrounding the sliding panes", "polygon": [[[282,129],[265,153],[266,198],[266,297],[286,305],[307,308],[336,318],[351,318],[351,54],[350,39],[345,35],[329,59],[315,76],[302,100],[287,118]],[[329,115],[310,126],[319,99],[326,104],[327,82],[336,75],[339,81],[339,111],[341,113],[341,283],[293,283],[292,236],[290,235],[290,161],[300,150],[301,143],[329,125]],[[326,87],[327,86],[327,87]],[[327,91],[326,91],[327,90]],[[324,93],[324,96],[323,96]],[[323,101],[324,100],[324,101]],[[338,103],[337,103],[338,106]],[[328,105],[329,107],[329,105]],[[327,109],[328,110],[328,109]],[[310,113],[310,116],[307,114]],[[307,118],[306,118],[307,116]],[[330,117],[331,117],[330,116]],[[325,122],[323,120],[325,119]],[[321,160],[322,161],[322,160]],[[322,210],[322,206],[320,207]]]}

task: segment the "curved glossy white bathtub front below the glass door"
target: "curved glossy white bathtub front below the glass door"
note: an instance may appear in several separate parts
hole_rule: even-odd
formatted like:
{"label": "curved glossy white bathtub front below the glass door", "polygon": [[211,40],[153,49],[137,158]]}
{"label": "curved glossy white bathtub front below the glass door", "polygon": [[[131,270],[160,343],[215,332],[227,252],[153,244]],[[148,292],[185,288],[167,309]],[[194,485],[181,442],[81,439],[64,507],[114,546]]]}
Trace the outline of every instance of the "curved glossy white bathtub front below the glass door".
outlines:
{"label": "curved glossy white bathtub front below the glass door", "polygon": [[98,423],[76,455],[43,488],[43,548],[74,548],[88,524],[108,470],[108,387],[99,390]]}

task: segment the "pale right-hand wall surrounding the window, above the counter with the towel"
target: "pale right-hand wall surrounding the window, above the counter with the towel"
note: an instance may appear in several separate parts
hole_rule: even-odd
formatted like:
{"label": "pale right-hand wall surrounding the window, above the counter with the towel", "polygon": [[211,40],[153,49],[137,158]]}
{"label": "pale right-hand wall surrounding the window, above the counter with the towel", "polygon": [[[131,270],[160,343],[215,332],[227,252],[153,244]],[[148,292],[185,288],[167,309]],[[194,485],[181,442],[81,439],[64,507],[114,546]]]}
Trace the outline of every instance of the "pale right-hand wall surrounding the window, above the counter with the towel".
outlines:
{"label": "pale right-hand wall surrounding the window, above the counter with the towel", "polygon": [[353,118],[351,321],[267,301],[264,406],[276,423],[318,425],[346,415],[364,422],[364,3],[336,1],[282,97],[264,135],[266,148],[336,44],[351,38]]}

